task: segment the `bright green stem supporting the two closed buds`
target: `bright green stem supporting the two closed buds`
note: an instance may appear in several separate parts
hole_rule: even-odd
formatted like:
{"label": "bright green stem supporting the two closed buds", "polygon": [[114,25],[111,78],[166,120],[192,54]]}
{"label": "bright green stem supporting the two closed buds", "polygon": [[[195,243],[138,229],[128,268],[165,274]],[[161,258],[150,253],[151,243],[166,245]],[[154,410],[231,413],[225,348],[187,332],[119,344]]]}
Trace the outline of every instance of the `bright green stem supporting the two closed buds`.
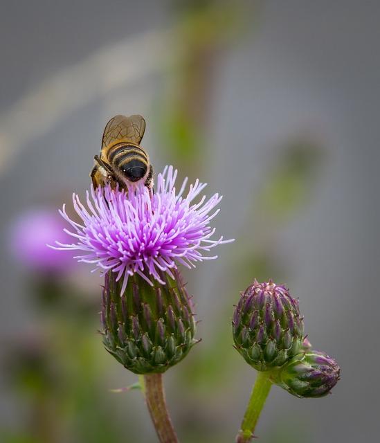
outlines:
{"label": "bright green stem supporting the two closed buds", "polygon": [[266,372],[257,372],[257,378],[255,385],[251,392],[251,398],[249,399],[246,413],[242,421],[242,428],[236,436],[236,443],[248,443],[251,442],[253,432],[257,420],[260,417],[261,410],[264,406],[266,397],[268,397],[271,390],[272,382],[269,380]]}

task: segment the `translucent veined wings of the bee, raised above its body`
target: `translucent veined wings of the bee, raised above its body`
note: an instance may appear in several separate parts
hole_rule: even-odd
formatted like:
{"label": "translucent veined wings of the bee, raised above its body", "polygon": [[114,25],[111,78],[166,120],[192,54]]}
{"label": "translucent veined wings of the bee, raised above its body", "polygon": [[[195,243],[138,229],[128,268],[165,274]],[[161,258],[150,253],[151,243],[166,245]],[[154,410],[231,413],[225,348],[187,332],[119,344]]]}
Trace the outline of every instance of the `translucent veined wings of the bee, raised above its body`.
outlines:
{"label": "translucent veined wings of the bee, raised above its body", "polygon": [[105,127],[102,138],[102,149],[120,142],[140,144],[145,132],[145,120],[142,116],[114,116]]}

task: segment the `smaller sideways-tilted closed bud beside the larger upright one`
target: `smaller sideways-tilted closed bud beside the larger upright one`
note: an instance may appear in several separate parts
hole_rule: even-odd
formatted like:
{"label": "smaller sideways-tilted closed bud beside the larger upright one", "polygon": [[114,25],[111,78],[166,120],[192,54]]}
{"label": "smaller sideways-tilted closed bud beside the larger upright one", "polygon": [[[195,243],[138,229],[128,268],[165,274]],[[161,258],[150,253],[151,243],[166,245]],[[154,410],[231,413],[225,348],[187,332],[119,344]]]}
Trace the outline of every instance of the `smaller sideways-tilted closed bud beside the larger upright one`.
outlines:
{"label": "smaller sideways-tilted closed bud beside the larger upright one", "polygon": [[306,351],[294,356],[271,379],[296,397],[323,397],[338,382],[340,371],[325,352]]}

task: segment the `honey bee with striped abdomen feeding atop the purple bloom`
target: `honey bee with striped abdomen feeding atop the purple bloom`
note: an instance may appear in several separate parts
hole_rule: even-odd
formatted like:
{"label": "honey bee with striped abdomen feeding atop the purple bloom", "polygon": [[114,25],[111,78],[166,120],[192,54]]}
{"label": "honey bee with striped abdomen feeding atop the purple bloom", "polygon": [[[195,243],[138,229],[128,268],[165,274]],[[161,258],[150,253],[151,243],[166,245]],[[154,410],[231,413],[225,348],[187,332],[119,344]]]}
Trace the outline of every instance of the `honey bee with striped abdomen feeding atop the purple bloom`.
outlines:
{"label": "honey bee with striped abdomen feeding atop the purple bloom", "polygon": [[145,149],[140,146],[145,132],[142,116],[114,116],[105,127],[100,156],[96,155],[90,177],[93,187],[111,184],[127,189],[127,183],[143,181],[152,191],[153,168]]}

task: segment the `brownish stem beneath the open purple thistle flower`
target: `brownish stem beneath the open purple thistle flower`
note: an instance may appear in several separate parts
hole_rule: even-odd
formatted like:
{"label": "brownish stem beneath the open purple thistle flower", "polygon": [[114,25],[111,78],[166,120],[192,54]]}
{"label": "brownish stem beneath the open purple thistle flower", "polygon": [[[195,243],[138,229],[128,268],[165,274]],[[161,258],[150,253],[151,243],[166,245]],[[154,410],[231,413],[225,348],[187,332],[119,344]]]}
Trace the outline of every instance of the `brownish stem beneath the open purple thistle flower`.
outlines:
{"label": "brownish stem beneath the open purple thistle flower", "polygon": [[162,374],[145,374],[145,401],[161,443],[178,443],[172,421],[166,407]]}

